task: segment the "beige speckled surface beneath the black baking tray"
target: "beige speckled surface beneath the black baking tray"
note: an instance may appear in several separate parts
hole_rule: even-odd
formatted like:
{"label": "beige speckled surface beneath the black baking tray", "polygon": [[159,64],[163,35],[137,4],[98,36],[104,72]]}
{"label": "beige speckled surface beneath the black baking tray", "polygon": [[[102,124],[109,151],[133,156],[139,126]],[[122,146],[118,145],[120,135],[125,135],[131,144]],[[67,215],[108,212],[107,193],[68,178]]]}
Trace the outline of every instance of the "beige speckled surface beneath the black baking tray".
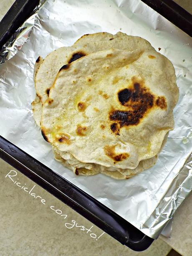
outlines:
{"label": "beige speckled surface beneath the black baking tray", "polygon": [[[0,0],[0,20],[8,11],[14,0]],[[175,0],[182,7],[192,13],[191,0]],[[76,255],[76,256],[134,256],[138,253],[122,246],[109,235],[104,234],[96,241],[78,228],[67,229],[66,222],[75,220],[79,225],[91,227],[92,224],[71,208],[61,203],[53,195],[35,186],[35,193],[45,198],[46,205],[38,199],[34,199],[25,191],[5,178],[13,167],[0,160],[0,256],[20,255]],[[18,172],[21,183],[32,188],[35,183]],[[171,238],[157,239],[152,246],[139,255],[165,256],[170,251],[169,243],[184,256],[191,256],[192,228],[189,225],[192,218],[190,203],[192,195],[188,198],[184,207],[178,210],[173,225]],[[61,209],[68,217],[66,220],[50,209],[54,205]],[[186,214],[187,213],[187,214]],[[180,216],[185,216],[181,225]],[[93,226],[93,233],[99,236],[102,231]]]}

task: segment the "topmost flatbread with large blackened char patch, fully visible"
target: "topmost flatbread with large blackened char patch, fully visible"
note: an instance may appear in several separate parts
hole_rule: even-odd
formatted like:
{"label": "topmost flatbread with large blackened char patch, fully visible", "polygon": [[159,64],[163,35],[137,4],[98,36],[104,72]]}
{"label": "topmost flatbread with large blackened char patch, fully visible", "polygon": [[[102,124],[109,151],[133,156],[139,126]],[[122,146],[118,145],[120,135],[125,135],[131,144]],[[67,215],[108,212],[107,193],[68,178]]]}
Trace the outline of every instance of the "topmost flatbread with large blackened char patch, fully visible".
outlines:
{"label": "topmost flatbread with large blackened char patch, fully visible", "polygon": [[84,56],[60,69],[43,106],[43,136],[63,158],[135,169],[173,129],[175,81],[172,63],[154,50]]}

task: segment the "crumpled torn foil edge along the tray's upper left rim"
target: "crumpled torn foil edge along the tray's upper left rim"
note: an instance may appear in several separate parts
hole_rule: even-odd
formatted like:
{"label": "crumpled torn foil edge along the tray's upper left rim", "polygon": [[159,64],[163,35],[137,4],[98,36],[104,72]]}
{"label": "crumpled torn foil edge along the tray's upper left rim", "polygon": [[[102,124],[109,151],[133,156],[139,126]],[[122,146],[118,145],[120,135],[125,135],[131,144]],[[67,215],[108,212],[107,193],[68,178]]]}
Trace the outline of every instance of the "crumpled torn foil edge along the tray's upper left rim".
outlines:
{"label": "crumpled torn foil edge along the tray's upper left rim", "polygon": [[30,37],[30,33],[38,18],[38,11],[44,5],[46,0],[40,0],[39,5],[33,10],[30,17],[21,25],[0,50],[0,64],[10,60],[24,46]]}

